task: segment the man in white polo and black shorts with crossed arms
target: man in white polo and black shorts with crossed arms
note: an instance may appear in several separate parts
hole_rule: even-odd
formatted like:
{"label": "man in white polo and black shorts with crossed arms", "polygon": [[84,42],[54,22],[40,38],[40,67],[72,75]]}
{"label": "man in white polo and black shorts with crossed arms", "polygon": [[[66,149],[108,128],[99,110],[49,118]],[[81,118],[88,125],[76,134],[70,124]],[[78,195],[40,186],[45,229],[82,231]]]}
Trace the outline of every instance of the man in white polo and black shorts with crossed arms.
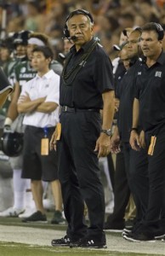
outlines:
{"label": "man in white polo and black shorts with crossed arms", "polygon": [[[25,113],[26,125],[23,150],[23,178],[31,179],[32,195],[37,212],[23,219],[24,222],[46,221],[43,209],[43,186],[41,180],[51,182],[56,210],[61,217],[62,200],[57,177],[57,160],[54,152],[48,152],[48,139],[59,121],[60,76],[49,69],[53,52],[48,46],[33,50],[32,66],[37,76],[23,85],[18,102],[19,113]],[[43,145],[43,146],[41,146]]]}

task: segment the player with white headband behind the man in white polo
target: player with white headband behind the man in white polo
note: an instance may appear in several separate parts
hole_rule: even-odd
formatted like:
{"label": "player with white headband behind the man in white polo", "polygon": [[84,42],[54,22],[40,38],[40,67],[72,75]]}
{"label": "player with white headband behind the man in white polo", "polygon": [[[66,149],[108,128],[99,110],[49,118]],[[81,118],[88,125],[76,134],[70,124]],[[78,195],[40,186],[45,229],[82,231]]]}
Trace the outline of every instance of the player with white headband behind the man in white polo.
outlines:
{"label": "player with white headband behind the man in white polo", "polygon": [[[29,38],[26,38],[26,44],[27,60],[21,61],[20,64],[15,65],[13,70],[15,79],[14,94],[12,96],[12,101],[9,104],[7,117],[4,122],[5,129],[18,132],[24,132],[25,129],[22,125],[23,114],[18,115],[17,112],[17,102],[20,96],[20,91],[23,84],[26,84],[26,82],[33,79],[37,74],[37,71],[31,66],[32,50],[36,46],[50,46],[48,37],[39,32],[31,32]],[[59,75],[62,73],[62,65],[58,61],[51,61],[51,69]],[[0,216],[19,216],[20,218],[26,218],[31,216],[35,211],[35,207],[33,206],[34,203],[31,195],[31,182],[28,179],[21,178],[22,154],[18,157],[10,158],[10,164],[13,169],[14,206],[0,212]]]}

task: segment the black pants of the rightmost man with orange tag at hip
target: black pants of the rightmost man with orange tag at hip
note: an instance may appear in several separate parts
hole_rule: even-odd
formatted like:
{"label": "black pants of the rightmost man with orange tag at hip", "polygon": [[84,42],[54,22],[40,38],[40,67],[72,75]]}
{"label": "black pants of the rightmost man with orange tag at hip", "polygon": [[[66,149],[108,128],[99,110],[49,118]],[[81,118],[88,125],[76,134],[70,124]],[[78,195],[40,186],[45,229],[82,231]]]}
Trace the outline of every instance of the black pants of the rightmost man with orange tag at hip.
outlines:
{"label": "black pants of the rightmost man with orange tag at hip", "polygon": [[[145,225],[150,229],[159,227],[160,218],[165,228],[164,191],[165,191],[165,129],[156,136],[153,155],[148,156],[149,166],[149,202],[145,216]],[[146,137],[149,146],[151,137]]]}

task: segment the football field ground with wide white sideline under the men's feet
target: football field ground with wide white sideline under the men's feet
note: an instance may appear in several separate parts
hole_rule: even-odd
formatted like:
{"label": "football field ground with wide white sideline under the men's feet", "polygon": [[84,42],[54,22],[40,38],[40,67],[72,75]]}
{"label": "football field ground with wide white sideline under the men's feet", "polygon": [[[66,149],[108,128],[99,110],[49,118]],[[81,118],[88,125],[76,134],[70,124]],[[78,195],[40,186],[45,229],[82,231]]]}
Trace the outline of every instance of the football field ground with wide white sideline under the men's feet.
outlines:
{"label": "football field ground with wide white sideline under the men's feet", "polygon": [[106,231],[107,249],[52,247],[51,240],[65,236],[66,225],[22,223],[20,218],[0,218],[0,256],[164,256],[165,242],[125,241],[121,232]]}

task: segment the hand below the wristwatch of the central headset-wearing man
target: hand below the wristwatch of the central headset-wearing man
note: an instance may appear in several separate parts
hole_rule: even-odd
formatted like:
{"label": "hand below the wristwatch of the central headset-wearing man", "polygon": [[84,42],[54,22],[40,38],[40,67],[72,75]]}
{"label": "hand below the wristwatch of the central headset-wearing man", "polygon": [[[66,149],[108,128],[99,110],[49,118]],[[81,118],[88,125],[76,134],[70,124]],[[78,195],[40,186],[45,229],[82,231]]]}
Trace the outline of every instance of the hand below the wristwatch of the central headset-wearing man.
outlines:
{"label": "hand below the wristwatch of the central headset-wearing man", "polygon": [[94,152],[98,152],[98,158],[104,157],[110,153],[110,137],[105,133],[100,133],[100,137],[96,142]]}

